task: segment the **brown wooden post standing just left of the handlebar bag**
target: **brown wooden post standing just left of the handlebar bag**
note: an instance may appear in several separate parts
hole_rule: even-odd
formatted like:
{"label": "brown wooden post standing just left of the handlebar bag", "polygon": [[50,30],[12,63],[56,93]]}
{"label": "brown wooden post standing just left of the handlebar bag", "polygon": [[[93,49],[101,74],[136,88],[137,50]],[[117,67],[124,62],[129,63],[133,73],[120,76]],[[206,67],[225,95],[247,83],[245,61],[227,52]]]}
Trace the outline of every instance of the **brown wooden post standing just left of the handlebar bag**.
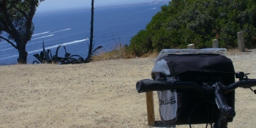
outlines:
{"label": "brown wooden post standing just left of the handlebar bag", "polygon": [[154,126],[154,99],[153,91],[146,92],[146,104],[148,113],[148,126]]}

